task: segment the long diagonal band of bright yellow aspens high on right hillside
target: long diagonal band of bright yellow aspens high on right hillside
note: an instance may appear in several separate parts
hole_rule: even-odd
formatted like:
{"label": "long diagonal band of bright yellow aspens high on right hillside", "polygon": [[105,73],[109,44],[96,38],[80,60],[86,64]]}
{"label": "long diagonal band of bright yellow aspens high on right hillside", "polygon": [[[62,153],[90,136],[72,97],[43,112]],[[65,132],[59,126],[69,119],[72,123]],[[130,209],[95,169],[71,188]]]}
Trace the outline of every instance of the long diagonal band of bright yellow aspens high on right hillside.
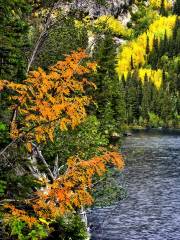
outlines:
{"label": "long diagonal band of bright yellow aspens high on right hillside", "polygon": [[139,65],[143,66],[147,58],[147,38],[149,38],[149,48],[150,51],[152,51],[154,37],[160,40],[164,37],[165,32],[167,37],[171,37],[175,22],[175,15],[169,17],[160,17],[149,26],[149,29],[146,33],[143,33],[138,38],[129,41],[127,44],[124,44],[117,56],[117,72],[119,77],[122,75],[126,77],[127,73],[132,70],[132,59],[134,68],[138,68]]}

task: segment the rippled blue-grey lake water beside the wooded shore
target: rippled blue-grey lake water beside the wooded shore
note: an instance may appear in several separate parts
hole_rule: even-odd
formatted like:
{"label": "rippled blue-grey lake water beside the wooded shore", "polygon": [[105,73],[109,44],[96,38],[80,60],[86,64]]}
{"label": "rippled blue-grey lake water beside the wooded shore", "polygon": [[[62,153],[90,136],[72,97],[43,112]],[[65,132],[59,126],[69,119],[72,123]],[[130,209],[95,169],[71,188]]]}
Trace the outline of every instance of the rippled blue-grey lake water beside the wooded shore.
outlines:
{"label": "rippled blue-grey lake water beside the wooded shore", "polygon": [[92,240],[180,240],[180,133],[139,132],[122,151],[128,196],[92,210]]}

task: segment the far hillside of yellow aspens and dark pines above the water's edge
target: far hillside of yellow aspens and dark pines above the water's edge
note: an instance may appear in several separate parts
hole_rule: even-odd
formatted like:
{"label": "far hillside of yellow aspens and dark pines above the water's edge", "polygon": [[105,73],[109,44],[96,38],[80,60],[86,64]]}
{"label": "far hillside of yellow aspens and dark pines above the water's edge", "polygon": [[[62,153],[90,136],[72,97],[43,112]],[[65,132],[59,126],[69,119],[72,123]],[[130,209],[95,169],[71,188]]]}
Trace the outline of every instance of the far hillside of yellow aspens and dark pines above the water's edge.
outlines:
{"label": "far hillside of yellow aspens and dark pines above the water's edge", "polygon": [[122,47],[117,71],[124,82],[128,124],[179,126],[179,41],[179,18],[159,16]]}

